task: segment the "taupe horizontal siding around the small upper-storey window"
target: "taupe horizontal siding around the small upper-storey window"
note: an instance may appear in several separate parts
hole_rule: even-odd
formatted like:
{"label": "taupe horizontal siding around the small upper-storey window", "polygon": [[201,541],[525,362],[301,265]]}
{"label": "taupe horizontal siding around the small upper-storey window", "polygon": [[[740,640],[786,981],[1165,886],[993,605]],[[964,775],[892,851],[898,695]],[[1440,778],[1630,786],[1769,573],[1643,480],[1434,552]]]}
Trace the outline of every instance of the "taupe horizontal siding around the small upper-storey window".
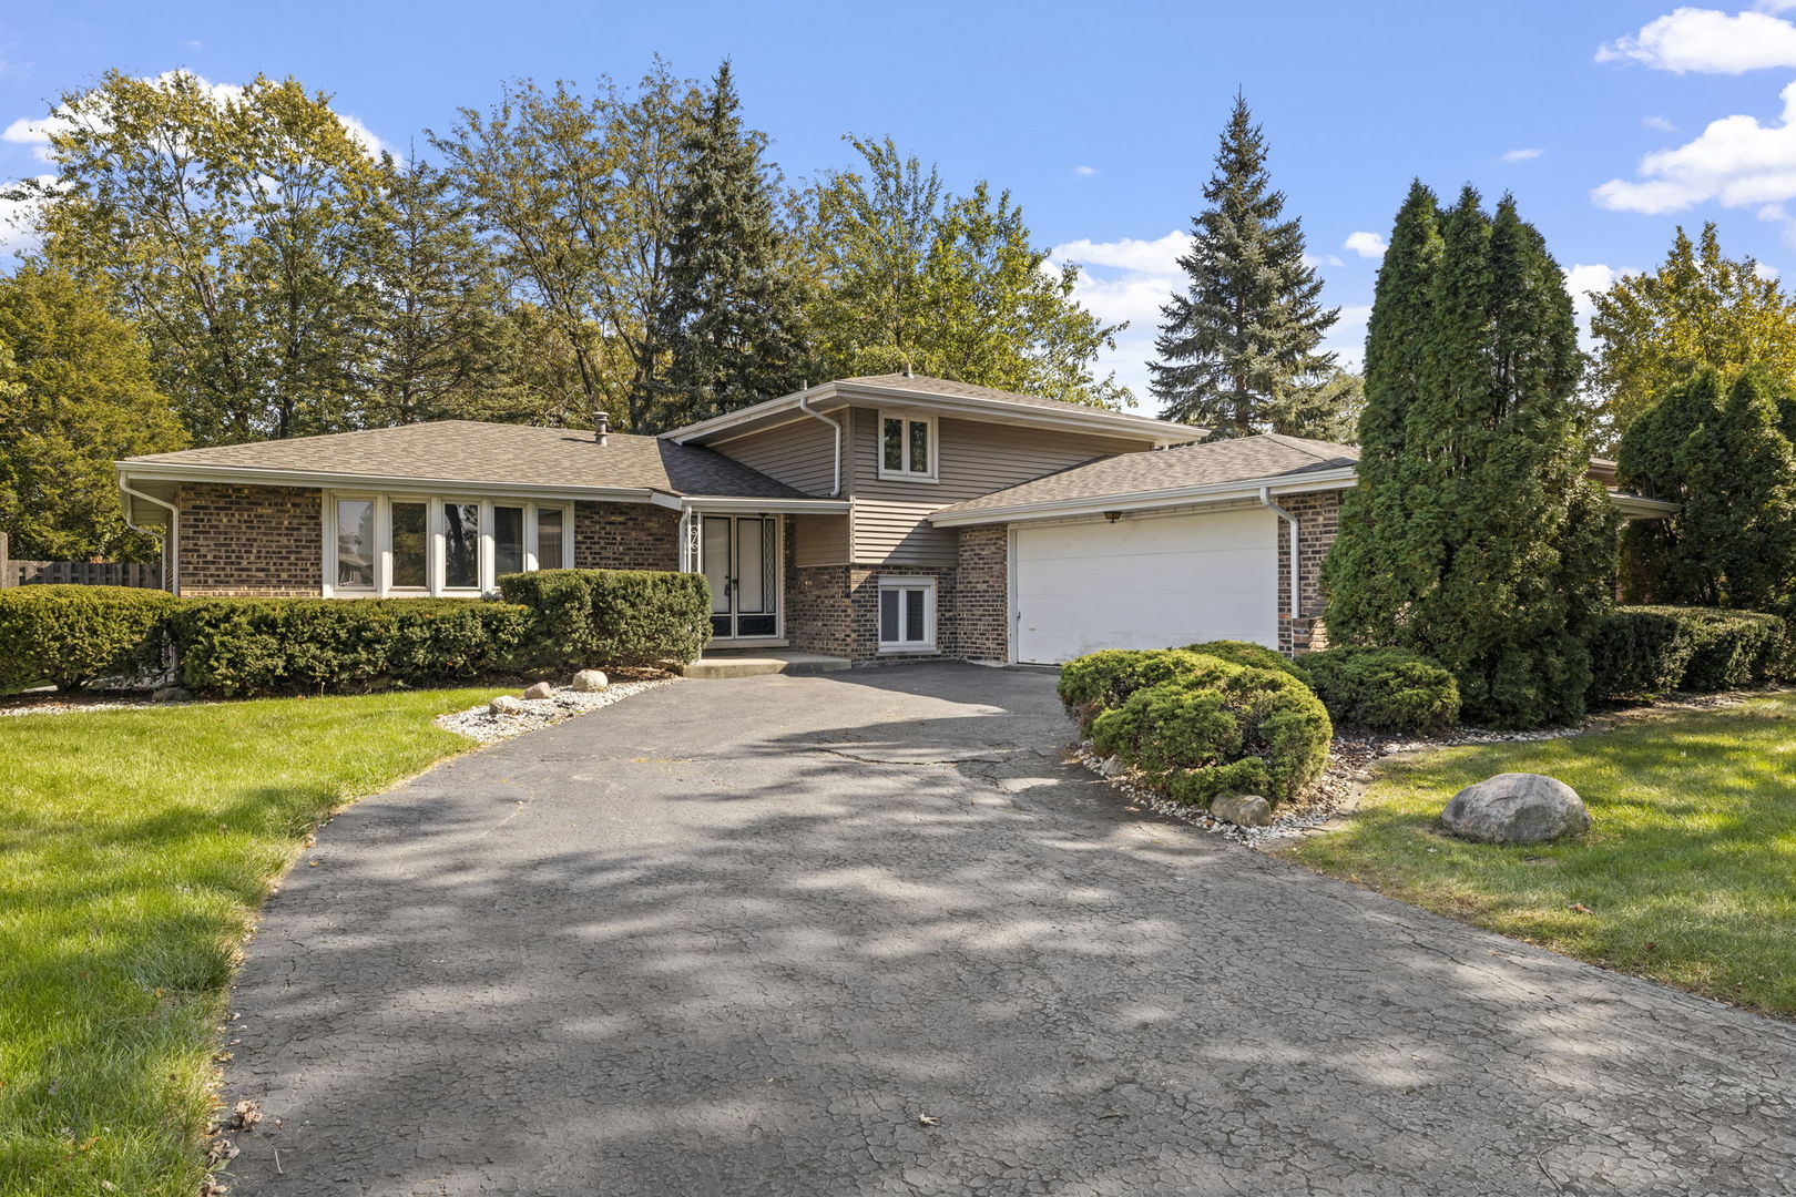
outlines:
{"label": "taupe horizontal siding around the small upper-storey window", "polygon": [[[936,425],[936,483],[878,476],[878,411],[855,409],[853,470],[855,562],[885,565],[954,565],[954,529],[932,528],[929,513],[961,499],[988,495],[1033,477],[1115,452],[1149,449],[1148,441],[1061,432],[1020,424],[943,418]],[[828,454],[824,454],[828,458]]]}

